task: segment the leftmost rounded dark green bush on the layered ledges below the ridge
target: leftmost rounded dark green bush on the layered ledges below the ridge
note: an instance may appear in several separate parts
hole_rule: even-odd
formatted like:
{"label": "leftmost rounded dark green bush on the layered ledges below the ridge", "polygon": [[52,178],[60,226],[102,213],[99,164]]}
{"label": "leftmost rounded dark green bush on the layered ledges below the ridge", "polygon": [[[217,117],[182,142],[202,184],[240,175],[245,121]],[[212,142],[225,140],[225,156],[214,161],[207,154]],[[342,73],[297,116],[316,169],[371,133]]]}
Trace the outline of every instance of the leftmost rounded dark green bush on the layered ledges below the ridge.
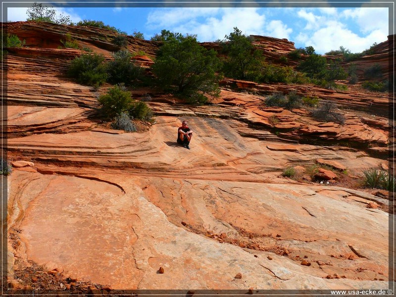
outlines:
{"label": "leftmost rounded dark green bush on the layered ledges below the ridge", "polygon": [[83,54],[71,61],[68,75],[79,84],[99,87],[106,82],[104,57],[99,54]]}

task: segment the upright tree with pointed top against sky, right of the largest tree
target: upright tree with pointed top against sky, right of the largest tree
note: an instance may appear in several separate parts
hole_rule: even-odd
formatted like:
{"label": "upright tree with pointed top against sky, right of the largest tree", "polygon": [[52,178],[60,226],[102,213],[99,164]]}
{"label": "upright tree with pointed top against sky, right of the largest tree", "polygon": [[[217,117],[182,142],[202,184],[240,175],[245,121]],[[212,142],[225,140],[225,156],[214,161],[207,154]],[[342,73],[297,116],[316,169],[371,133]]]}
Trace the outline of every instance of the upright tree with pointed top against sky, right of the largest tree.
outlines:
{"label": "upright tree with pointed top against sky, right of the largest tree", "polygon": [[227,77],[246,79],[249,72],[260,67],[261,52],[252,45],[251,39],[234,27],[234,32],[225,36],[222,42],[226,54],[223,71]]}

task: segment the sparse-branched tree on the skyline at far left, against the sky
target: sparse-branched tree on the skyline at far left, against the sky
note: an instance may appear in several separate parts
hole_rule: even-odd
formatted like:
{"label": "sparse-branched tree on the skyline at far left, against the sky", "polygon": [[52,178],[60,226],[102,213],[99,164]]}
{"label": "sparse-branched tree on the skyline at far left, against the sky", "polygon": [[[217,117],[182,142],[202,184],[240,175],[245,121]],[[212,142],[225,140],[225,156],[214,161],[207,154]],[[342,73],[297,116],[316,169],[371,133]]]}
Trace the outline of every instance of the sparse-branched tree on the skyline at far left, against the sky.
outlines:
{"label": "sparse-branched tree on the skyline at far left, against the sky", "polygon": [[59,25],[70,24],[69,16],[63,13],[57,15],[54,8],[43,6],[42,3],[34,2],[32,7],[27,9],[26,13],[28,15],[28,21],[49,22]]}

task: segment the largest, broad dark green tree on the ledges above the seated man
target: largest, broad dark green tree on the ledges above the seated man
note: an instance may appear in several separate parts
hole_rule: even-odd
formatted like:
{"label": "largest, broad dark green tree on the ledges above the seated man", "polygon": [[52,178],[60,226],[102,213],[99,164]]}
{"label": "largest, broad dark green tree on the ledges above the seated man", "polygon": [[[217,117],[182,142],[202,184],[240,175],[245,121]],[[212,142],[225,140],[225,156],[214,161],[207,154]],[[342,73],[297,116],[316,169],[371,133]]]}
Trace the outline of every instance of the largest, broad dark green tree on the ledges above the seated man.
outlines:
{"label": "largest, broad dark green tree on the ledges above the seated man", "polygon": [[216,52],[201,47],[194,36],[172,33],[164,38],[152,66],[158,85],[193,104],[205,103],[205,94],[217,96],[215,71],[219,69],[220,61]]}

